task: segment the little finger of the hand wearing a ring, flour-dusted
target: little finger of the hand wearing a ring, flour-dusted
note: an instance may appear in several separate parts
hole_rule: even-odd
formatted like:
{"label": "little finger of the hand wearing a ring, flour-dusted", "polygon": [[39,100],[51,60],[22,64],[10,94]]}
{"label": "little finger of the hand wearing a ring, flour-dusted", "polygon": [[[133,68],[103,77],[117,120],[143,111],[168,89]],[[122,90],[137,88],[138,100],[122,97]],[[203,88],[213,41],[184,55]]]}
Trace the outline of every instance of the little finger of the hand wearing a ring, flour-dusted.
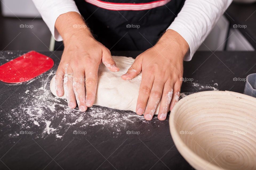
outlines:
{"label": "little finger of the hand wearing a ring, flour-dusted", "polygon": [[64,95],[64,89],[63,89],[64,74],[65,73],[62,68],[58,68],[55,74],[55,91],[58,97],[62,97]]}

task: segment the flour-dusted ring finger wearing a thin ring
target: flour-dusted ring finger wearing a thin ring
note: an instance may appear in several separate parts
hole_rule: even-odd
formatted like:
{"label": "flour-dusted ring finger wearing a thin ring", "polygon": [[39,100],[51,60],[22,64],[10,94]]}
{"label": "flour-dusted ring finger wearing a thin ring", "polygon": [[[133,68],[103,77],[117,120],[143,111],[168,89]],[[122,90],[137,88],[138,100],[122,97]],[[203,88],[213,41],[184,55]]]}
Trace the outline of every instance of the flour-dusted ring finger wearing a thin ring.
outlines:
{"label": "flour-dusted ring finger wearing a thin ring", "polygon": [[[66,65],[65,70],[66,70],[65,74],[73,74],[73,70],[71,69],[71,67],[69,67],[68,64]],[[73,91],[72,82],[73,82],[73,77],[70,77],[70,76],[64,77],[63,87],[66,92],[67,104],[71,109],[74,109],[77,106],[77,103],[75,101],[75,94]]]}

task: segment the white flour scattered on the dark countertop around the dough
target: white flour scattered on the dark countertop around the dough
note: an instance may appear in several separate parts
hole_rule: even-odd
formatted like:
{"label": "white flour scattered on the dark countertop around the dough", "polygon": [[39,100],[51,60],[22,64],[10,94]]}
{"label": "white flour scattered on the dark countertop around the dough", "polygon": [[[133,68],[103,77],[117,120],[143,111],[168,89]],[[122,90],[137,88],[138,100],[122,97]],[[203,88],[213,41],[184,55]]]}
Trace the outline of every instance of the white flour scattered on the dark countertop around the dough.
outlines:
{"label": "white flour scattered on the dark countertop around the dough", "polygon": [[[45,73],[46,74],[46,73]],[[36,138],[46,138],[55,136],[56,139],[62,139],[69,131],[70,127],[84,130],[86,127],[97,127],[97,129],[109,129],[113,134],[118,135],[123,132],[128,125],[133,123],[149,123],[142,116],[132,111],[115,110],[101,106],[93,106],[86,112],[80,112],[78,108],[69,109],[65,99],[60,99],[51,94],[49,84],[51,77],[55,72],[51,71],[47,76],[38,76],[37,78],[25,82],[26,89],[23,97],[20,97],[21,103],[17,105],[8,114],[12,123],[20,126],[20,130],[29,131],[32,127],[38,131]],[[35,88],[34,81],[40,81],[41,86]],[[184,82],[189,83],[189,82]],[[218,90],[217,84],[201,85],[192,83],[195,89],[192,92],[181,93],[181,98],[191,93],[205,90]],[[197,89],[197,90],[196,90]],[[157,121],[154,116],[151,122]],[[10,125],[11,127],[11,125]],[[9,135],[18,136],[19,131]]]}

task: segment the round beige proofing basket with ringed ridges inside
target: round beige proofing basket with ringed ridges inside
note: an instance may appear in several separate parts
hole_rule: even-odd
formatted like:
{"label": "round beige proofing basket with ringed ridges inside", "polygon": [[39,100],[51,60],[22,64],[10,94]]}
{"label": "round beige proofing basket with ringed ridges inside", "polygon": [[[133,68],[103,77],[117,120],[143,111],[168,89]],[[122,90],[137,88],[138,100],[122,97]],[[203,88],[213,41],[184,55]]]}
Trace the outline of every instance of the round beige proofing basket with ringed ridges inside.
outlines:
{"label": "round beige proofing basket with ringed ridges inside", "polygon": [[256,169],[256,98],[194,93],[174,106],[169,123],[175,146],[195,169]]}

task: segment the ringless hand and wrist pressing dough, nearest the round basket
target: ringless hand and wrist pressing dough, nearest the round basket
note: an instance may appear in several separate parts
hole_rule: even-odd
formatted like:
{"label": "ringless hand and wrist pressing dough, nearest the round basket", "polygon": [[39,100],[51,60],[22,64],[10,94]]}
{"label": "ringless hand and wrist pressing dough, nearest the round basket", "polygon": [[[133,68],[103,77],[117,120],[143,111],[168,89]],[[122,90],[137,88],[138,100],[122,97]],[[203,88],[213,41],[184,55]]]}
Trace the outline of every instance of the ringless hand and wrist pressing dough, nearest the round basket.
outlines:
{"label": "ringless hand and wrist pressing dough, nearest the round basket", "polygon": [[186,40],[176,31],[167,30],[158,43],[135,59],[124,80],[136,77],[141,71],[136,113],[151,120],[161,99],[158,119],[165,120],[178,102],[183,76],[183,59],[189,49]]}

